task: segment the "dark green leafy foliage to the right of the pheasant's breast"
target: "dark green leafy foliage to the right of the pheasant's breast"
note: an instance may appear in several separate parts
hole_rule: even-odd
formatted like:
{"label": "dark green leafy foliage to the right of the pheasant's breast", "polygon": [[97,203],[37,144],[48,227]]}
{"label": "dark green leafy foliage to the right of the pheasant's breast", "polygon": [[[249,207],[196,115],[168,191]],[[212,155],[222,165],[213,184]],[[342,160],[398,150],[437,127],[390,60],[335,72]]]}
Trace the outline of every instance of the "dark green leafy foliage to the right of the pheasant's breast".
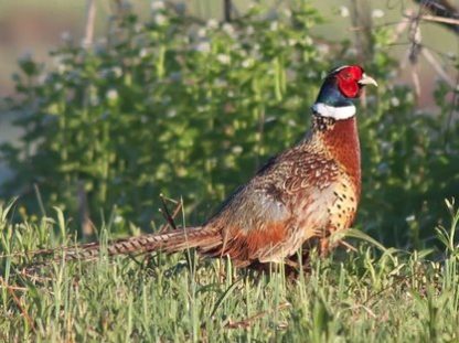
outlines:
{"label": "dark green leafy foliage to the right of the pheasant's breast", "polygon": [[459,194],[459,122],[438,85],[439,111],[416,111],[408,88],[382,94],[375,116],[362,120],[365,228],[389,245],[416,248],[431,239],[445,215],[442,199]]}

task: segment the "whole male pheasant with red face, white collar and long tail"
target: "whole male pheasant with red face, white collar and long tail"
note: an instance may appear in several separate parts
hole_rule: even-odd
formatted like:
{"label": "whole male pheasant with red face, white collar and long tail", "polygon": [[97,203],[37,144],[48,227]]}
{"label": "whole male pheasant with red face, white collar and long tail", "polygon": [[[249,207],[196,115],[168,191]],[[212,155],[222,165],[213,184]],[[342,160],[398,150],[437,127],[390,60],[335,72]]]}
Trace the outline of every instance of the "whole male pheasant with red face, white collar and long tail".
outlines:
{"label": "whole male pheasant with red face, white collar and long tail", "polygon": [[[312,127],[292,148],[271,158],[204,224],[113,242],[108,255],[175,253],[230,257],[236,266],[287,261],[318,242],[327,251],[333,232],[349,228],[361,193],[355,106],[365,85],[376,82],[357,65],[325,77],[311,107]],[[66,259],[92,259],[97,243],[67,248]]]}

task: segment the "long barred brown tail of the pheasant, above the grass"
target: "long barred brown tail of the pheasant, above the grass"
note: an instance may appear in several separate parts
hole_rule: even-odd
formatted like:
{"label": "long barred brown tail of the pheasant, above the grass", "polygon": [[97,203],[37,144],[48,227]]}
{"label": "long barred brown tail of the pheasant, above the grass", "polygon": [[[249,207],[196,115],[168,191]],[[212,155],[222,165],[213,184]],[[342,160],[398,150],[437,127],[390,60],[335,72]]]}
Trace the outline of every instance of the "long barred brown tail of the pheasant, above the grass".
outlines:
{"label": "long barred brown tail of the pheasant, above the grass", "polygon": [[[222,236],[217,231],[203,227],[185,227],[160,234],[148,234],[114,240],[107,245],[108,256],[146,254],[151,251],[177,253],[188,248],[209,248],[218,246]],[[67,247],[64,250],[66,260],[94,259],[99,256],[98,243]]]}

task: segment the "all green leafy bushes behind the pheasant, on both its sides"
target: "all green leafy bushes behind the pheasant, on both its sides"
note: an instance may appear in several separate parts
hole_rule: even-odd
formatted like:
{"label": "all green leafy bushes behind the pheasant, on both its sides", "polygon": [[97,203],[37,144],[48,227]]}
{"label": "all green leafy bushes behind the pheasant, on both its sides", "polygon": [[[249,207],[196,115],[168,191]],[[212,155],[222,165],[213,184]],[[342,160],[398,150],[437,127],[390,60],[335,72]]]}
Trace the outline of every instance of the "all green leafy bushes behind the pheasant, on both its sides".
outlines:
{"label": "all green leafy bushes behind the pheasant, on both its sides", "polygon": [[[158,219],[164,193],[183,196],[189,222],[199,223],[300,139],[324,73],[359,60],[349,42],[330,49],[310,34],[320,20],[305,1],[277,13],[255,7],[231,24],[158,8],[147,22],[129,12],[114,18],[94,49],[63,43],[51,69],[21,60],[23,98],[11,106],[24,133],[19,146],[1,147],[14,171],[2,196],[20,194],[21,215],[33,219],[36,185],[45,208],[76,217],[83,184],[92,219],[115,211],[122,233],[129,221],[147,229]],[[364,61],[380,88],[359,110],[357,225],[385,244],[420,247],[444,216],[442,200],[459,194],[459,122],[445,85],[431,114],[393,85],[391,36],[375,31]]]}

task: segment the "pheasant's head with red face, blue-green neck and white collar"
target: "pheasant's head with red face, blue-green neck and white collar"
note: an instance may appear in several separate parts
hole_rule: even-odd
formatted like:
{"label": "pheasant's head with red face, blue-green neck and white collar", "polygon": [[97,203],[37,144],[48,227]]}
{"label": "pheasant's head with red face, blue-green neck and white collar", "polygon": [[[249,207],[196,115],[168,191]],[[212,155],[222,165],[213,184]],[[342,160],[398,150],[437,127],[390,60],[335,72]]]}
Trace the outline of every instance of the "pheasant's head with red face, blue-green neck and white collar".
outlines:
{"label": "pheasant's head with red face, blue-green neck and white collar", "polygon": [[316,104],[314,115],[333,119],[348,119],[355,115],[353,99],[360,97],[365,85],[377,86],[359,65],[344,65],[331,71],[323,81]]}

